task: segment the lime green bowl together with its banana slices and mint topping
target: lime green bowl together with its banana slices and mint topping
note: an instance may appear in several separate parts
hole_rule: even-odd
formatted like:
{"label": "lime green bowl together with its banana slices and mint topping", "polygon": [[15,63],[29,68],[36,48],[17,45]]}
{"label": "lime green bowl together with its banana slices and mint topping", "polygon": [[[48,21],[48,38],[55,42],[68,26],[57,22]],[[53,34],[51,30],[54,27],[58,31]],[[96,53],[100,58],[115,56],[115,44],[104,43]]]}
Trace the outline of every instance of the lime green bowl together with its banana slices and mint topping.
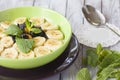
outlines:
{"label": "lime green bowl together with its banana slices and mint topping", "polygon": [[0,11],[0,66],[29,69],[50,63],[66,49],[71,34],[66,18],[46,8]]}

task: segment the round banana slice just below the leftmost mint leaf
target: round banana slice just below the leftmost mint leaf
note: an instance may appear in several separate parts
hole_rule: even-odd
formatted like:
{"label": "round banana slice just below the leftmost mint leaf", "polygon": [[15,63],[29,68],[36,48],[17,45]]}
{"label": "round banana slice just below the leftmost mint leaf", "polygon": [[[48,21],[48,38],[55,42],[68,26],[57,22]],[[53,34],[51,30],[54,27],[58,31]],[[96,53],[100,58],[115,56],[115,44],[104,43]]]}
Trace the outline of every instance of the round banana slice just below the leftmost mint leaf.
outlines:
{"label": "round banana slice just below the leftmost mint leaf", "polygon": [[13,45],[13,40],[12,40],[12,37],[10,36],[6,36],[6,37],[2,37],[1,39],[1,44],[4,46],[4,47],[10,47]]}

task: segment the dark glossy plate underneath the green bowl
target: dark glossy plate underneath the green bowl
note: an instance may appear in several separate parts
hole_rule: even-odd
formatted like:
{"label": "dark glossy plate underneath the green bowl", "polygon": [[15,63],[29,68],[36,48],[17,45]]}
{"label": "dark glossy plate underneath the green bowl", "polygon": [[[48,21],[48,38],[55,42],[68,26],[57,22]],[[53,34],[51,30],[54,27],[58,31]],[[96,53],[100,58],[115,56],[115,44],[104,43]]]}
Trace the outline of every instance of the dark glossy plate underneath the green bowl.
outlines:
{"label": "dark glossy plate underneath the green bowl", "polygon": [[68,47],[54,61],[33,69],[15,70],[0,67],[0,80],[41,80],[50,77],[68,68],[74,62],[78,53],[79,43],[73,34]]}

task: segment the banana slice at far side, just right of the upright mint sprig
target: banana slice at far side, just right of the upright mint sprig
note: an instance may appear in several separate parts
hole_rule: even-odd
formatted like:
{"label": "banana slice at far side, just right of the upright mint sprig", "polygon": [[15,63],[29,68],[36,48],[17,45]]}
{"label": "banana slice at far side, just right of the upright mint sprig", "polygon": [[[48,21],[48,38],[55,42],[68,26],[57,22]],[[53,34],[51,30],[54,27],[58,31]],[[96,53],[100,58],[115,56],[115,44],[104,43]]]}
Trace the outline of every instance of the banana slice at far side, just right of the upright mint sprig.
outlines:
{"label": "banana slice at far side, just right of the upright mint sprig", "polygon": [[30,21],[33,22],[36,27],[40,27],[40,25],[45,22],[45,19],[40,17],[32,17],[30,18]]}

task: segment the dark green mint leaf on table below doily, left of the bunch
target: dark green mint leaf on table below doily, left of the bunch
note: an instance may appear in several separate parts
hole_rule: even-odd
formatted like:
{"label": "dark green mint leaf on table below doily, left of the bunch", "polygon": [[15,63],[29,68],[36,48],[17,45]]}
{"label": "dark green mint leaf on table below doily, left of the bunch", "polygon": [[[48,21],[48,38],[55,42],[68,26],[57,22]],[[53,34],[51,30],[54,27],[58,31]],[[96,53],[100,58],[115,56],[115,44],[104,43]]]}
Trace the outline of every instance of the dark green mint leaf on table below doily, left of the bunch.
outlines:
{"label": "dark green mint leaf on table below doily, left of the bunch", "polygon": [[87,50],[87,63],[90,66],[96,67],[98,64],[98,55],[95,49],[88,49]]}

